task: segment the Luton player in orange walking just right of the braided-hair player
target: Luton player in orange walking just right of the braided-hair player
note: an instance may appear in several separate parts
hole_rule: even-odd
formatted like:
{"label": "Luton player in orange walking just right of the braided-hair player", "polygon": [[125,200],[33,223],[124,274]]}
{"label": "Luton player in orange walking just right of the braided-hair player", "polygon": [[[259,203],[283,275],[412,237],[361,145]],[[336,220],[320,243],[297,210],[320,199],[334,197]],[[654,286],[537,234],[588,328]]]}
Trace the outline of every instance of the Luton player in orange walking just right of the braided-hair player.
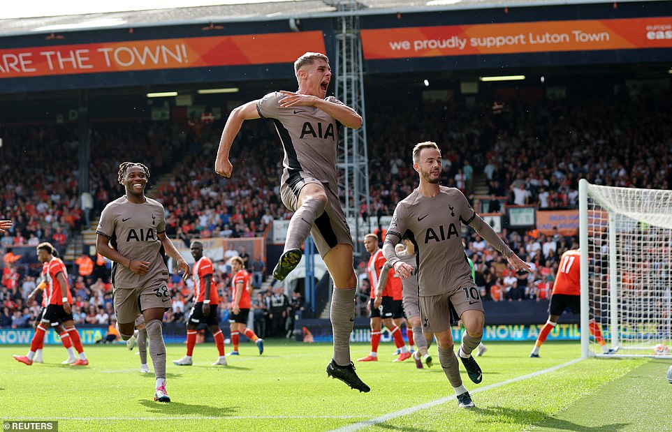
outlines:
{"label": "Luton player in orange walking just right of the braided-hair player", "polygon": [[219,351],[219,359],[212,366],[226,366],[224,357],[224,334],[219,328],[217,305],[219,294],[212,283],[212,261],[203,256],[203,244],[200,241],[191,243],[191,256],[196,260],[193,265],[193,306],[187,322],[187,355],[179,360],[173,360],[177,366],[191,366],[191,354],[193,345],[196,345],[196,329],[201,324],[206,324],[214,336],[214,343]]}

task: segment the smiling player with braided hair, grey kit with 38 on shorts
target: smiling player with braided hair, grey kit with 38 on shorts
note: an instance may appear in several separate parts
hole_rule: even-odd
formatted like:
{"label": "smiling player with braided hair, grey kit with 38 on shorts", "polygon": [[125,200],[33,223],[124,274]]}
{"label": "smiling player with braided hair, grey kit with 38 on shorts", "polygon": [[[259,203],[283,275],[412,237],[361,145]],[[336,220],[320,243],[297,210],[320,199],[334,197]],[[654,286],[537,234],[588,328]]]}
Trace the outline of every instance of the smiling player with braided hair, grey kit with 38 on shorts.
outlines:
{"label": "smiling player with braided hair, grey kit with 38 on shorts", "polygon": [[154,363],[154,401],[170,402],[166,393],[166,345],[161,320],[171,306],[164,253],[177,262],[184,278],[189,265],[166,236],[166,214],[160,202],[145,196],[149,168],[142,163],[119,165],[119,183],[126,193],[107,204],[96,229],[96,247],[112,265],[115,313],[119,335],[133,336],[136,318],[145,318],[149,356]]}

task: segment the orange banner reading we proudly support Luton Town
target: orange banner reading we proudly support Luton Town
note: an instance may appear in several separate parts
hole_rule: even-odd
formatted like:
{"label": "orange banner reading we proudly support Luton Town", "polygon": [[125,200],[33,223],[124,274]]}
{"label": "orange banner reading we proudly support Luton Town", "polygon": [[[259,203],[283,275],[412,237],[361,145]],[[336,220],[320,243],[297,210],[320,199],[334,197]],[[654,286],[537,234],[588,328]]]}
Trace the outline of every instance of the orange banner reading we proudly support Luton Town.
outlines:
{"label": "orange banner reading we proudly support Luton Town", "polygon": [[362,30],[364,58],[672,47],[672,17]]}

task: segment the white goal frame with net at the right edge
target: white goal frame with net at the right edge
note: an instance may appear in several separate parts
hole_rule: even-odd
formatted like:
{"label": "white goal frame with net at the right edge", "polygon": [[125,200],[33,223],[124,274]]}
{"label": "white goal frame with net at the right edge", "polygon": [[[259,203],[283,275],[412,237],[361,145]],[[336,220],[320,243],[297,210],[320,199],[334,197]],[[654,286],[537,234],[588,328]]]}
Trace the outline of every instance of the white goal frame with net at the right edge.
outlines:
{"label": "white goal frame with net at the right edge", "polygon": [[[581,355],[639,357],[672,350],[672,191],[579,181]],[[614,354],[588,332],[594,317]]]}

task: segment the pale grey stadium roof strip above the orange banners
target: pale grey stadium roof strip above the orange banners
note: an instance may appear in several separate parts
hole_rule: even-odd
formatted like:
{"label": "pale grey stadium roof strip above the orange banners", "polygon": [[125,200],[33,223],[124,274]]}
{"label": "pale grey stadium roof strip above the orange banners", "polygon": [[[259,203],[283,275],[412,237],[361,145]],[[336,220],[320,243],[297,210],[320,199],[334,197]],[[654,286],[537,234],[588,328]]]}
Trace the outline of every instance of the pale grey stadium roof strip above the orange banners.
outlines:
{"label": "pale grey stadium roof strip above the orange banners", "polygon": [[[618,3],[633,1],[620,1]],[[54,31],[336,17],[339,15],[337,13],[338,5],[348,3],[349,0],[295,0],[189,8],[131,10],[84,15],[11,18],[0,20],[0,37],[52,33]],[[432,10],[517,8],[614,2],[613,0],[358,0],[354,3],[357,5],[356,13],[358,15],[380,15],[384,13],[431,12]]]}

